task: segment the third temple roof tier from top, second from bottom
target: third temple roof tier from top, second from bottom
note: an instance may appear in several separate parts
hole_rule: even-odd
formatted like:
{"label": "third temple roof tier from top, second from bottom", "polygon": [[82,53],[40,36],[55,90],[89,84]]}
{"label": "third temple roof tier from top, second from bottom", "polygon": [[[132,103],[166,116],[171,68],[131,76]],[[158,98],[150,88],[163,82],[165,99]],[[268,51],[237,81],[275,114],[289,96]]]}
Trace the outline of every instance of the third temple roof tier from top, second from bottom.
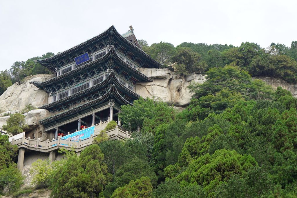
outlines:
{"label": "third temple roof tier from top, second from bottom", "polygon": [[131,91],[130,89],[128,89],[127,87],[125,87],[124,85],[122,85],[119,82],[119,80],[116,79],[116,75],[115,75],[115,73],[113,71],[101,83],[99,83],[97,85],[94,85],[94,86],[92,86],[90,88],[84,89],[84,90],[82,90],[82,91],[80,91],[78,93],[75,93],[73,95],[67,96],[67,97],[65,97],[63,99],[57,100],[55,102],[51,102],[49,104],[45,104],[45,105],[43,105],[41,107],[38,107],[38,109],[47,109],[47,110],[49,110],[49,109],[54,108],[54,107],[57,107],[57,106],[59,106],[61,104],[69,103],[70,101],[74,101],[74,100],[76,100],[78,98],[81,98],[81,97],[83,97],[86,94],[91,94],[92,92],[98,91],[98,90],[100,90],[100,89],[102,89],[104,87],[107,87],[110,84],[111,85],[115,85],[120,91],[128,94],[129,96],[131,96],[134,99],[139,99],[139,97],[140,97],[134,91]]}

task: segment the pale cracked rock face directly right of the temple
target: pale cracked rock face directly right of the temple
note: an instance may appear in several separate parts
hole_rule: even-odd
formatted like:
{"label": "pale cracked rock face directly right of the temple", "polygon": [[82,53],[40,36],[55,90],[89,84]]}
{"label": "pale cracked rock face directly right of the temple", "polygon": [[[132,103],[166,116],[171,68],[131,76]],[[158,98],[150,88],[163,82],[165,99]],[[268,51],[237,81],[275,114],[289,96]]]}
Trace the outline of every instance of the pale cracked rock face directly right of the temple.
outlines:
{"label": "pale cracked rock face directly right of the temple", "polygon": [[169,69],[141,68],[141,73],[153,79],[153,82],[136,83],[136,93],[140,96],[160,98],[165,102],[183,107],[189,104],[192,93],[187,86],[191,82],[203,83],[205,76],[192,74],[178,75]]}

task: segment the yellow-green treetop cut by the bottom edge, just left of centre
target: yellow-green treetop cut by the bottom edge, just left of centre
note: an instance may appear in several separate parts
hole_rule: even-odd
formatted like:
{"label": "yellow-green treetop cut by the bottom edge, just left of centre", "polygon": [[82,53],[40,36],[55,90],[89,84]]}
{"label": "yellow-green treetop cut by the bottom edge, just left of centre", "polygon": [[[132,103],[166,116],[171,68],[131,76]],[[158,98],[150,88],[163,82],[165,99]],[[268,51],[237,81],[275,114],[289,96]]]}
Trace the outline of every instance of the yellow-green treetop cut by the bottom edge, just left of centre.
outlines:
{"label": "yellow-green treetop cut by the bottom edge, just left of centre", "polygon": [[151,192],[153,190],[153,186],[151,186],[151,181],[148,177],[141,177],[137,180],[130,181],[129,184],[117,188],[111,198],[149,198],[151,197]]}

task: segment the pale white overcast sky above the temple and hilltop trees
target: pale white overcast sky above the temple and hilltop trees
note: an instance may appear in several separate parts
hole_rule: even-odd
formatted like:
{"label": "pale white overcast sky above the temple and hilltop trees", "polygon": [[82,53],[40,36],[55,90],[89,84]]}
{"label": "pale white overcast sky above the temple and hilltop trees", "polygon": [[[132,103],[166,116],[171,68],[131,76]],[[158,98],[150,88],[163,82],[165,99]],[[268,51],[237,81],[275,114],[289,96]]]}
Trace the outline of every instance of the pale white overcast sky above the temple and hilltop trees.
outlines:
{"label": "pale white overcast sky above the temple and hilltop trees", "polygon": [[0,70],[46,52],[69,49],[114,25],[132,25],[149,45],[297,40],[297,1],[0,1]]}

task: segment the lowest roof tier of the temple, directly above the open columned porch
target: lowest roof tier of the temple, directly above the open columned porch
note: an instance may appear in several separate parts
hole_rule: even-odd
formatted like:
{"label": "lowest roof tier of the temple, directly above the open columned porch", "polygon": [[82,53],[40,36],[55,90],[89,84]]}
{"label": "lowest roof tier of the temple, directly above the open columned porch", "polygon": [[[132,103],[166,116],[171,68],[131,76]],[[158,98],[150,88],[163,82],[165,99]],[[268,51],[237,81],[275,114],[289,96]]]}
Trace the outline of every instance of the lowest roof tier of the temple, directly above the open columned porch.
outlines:
{"label": "lowest roof tier of the temple, directly above the open columned porch", "polygon": [[90,107],[93,107],[97,104],[101,104],[103,102],[108,102],[110,99],[114,99],[115,102],[123,105],[123,104],[130,104],[133,105],[131,102],[127,101],[126,99],[124,99],[121,94],[119,94],[119,91],[116,88],[116,85],[112,85],[110,87],[110,89],[101,97],[96,98],[94,100],[91,100],[89,102],[86,102],[85,104],[81,104],[77,107],[73,107],[72,109],[69,109],[67,111],[64,111],[62,113],[59,113],[57,115],[53,115],[49,118],[45,118],[43,120],[40,120],[39,123],[44,125],[44,124],[48,124],[50,122],[54,122],[54,121],[59,121],[59,119],[61,118],[65,118],[67,116],[71,116],[73,114],[79,113],[80,111],[83,111],[85,109],[88,109]]}

